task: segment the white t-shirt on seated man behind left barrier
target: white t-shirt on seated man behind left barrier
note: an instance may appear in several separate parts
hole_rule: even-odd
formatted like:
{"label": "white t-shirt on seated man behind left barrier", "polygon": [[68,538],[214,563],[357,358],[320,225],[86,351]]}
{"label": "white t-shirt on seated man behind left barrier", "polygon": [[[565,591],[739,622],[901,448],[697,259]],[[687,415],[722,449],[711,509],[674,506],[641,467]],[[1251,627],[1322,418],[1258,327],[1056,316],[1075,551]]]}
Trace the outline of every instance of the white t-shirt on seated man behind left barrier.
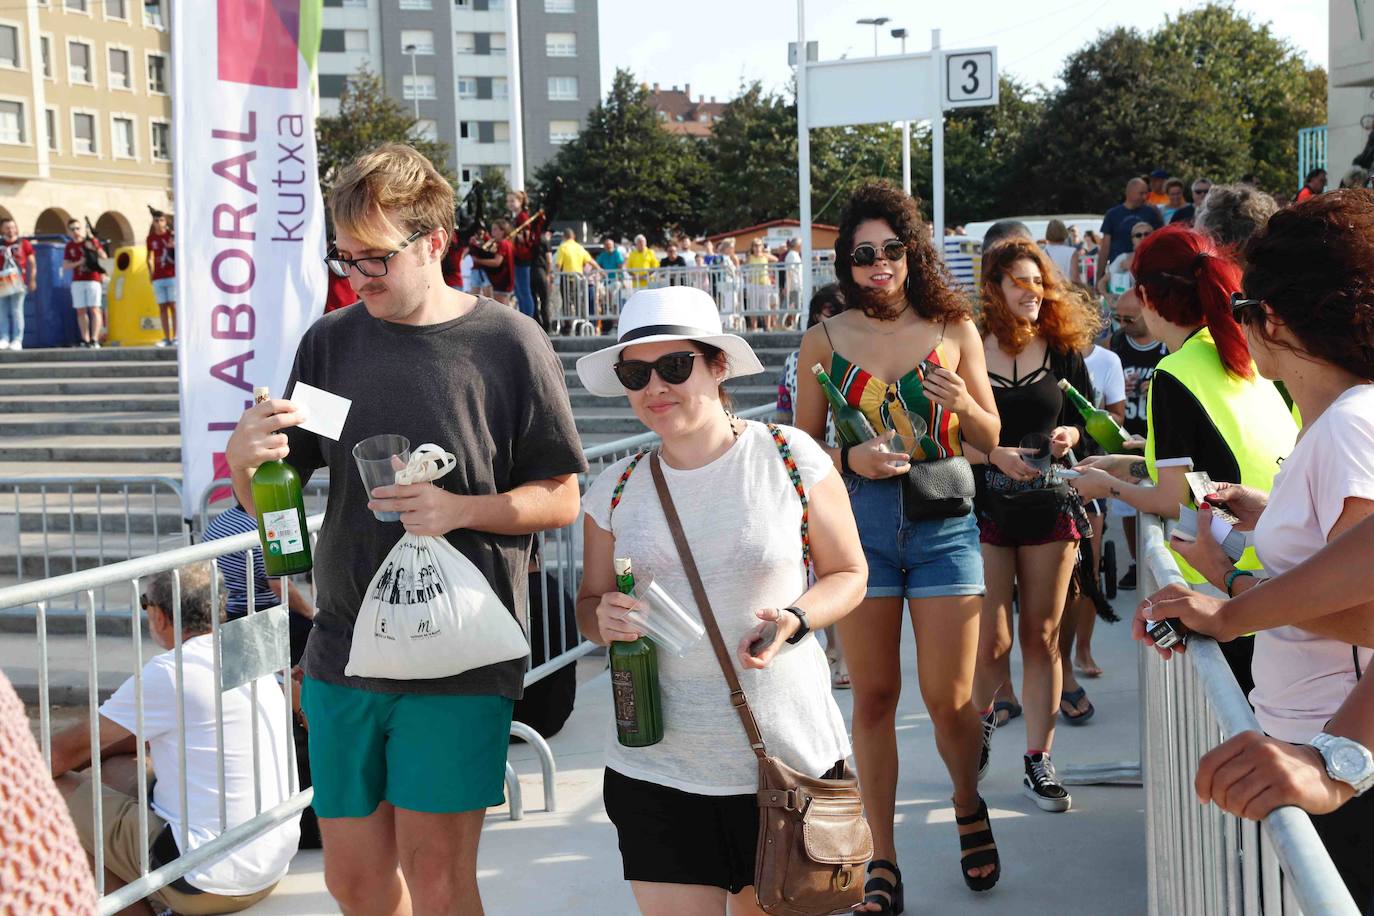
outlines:
{"label": "white t-shirt on seated man behind left barrier", "polygon": [[[220,780],[217,761],[220,737],[214,725],[214,659],[209,634],[181,644],[185,689],[185,797],[187,839],[191,849],[220,835]],[[258,766],[262,781],[262,810],[290,797],[287,757],[287,706],[275,677],[257,681]],[[250,685],[223,696],[224,709],[224,794],[228,827],[257,814],[253,795],[253,720]],[[100,706],[100,715],[137,732],[137,713],[131,677]],[[143,666],[143,733],[153,753],[153,810],[172,825],[181,847],[180,758],[177,754],[176,654],[164,652]],[[232,851],[192,869],[185,880],[212,894],[251,894],[271,887],[283,875],[301,840],[300,814],[280,827],[251,839]],[[187,850],[181,850],[187,851]]]}

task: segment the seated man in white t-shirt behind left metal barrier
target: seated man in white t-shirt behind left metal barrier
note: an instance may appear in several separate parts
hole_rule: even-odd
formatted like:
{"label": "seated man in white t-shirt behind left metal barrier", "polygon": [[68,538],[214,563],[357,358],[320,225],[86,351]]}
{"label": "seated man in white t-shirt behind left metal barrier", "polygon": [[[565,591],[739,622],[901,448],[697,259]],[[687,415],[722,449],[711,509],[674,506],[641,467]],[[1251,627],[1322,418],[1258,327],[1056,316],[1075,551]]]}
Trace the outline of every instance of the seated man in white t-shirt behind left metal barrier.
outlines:
{"label": "seated man in white t-shirt behind left metal barrier", "polygon": [[[93,853],[96,843],[104,847],[106,893],[142,876],[143,850],[148,850],[148,867],[157,869],[223,834],[221,803],[227,827],[234,828],[293,794],[282,685],[271,674],[223,692],[216,683],[210,626],[212,618],[223,619],[224,607],[223,597],[220,604],[213,603],[214,575],[209,563],[151,575],[140,603],[147,614],[148,634],[165,651],[143,666],[139,678],[124,681],[100,705],[95,724],[99,747],[92,748],[92,722],[85,720],[52,736],[52,777],[67,801],[81,845],[87,853]],[[172,625],[177,597],[181,602],[180,633]],[[181,645],[180,672],[173,651],[177,644]],[[184,747],[179,737],[183,722]],[[139,742],[148,744],[151,773],[139,770],[135,753]],[[85,769],[92,751],[100,757],[100,786],[92,784]],[[183,780],[185,809],[181,806]],[[150,783],[146,834],[139,829],[139,781]],[[95,803],[103,812],[103,836],[95,834]],[[183,834],[190,843],[184,847]],[[246,909],[265,900],[282,880],[300,838],[300,816],[289,817],[192,868],[184,878],[148,894],[147,900],[177,913]],[[153,911],[144,908],[143,912]]]}

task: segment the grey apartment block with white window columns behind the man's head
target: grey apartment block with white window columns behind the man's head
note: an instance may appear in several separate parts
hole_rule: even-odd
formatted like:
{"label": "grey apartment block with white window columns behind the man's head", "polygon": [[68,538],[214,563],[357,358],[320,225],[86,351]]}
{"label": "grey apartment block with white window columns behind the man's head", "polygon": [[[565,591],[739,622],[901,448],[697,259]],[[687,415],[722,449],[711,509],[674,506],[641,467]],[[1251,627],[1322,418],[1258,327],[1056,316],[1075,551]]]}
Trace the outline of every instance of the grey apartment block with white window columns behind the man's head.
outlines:
{"label": "grey apartment block with white window columns behind the man's head", "polygon": [[324,0],[323,25],[322,111],[365,66],[449,144],[462,183],[521,184],[600,99],[596,0]]}

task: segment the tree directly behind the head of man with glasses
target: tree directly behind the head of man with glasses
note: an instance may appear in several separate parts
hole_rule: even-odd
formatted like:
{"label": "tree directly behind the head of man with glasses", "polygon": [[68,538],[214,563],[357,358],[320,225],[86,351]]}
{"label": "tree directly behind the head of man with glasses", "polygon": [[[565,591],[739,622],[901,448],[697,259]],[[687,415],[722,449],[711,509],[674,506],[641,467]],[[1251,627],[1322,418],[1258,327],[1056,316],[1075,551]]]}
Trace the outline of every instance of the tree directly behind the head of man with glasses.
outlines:
{"label": "tree directly behind the head of man with glasses", "polygon": [[344,84],[338,114],[315,122],[320,187],[328,194],[339,169],[383,143],[411,144],[429,157],[449,184],[455,184],[448,144],[422,139],[418,125],[409,107],[386,95],[382,77],[361,67]]}

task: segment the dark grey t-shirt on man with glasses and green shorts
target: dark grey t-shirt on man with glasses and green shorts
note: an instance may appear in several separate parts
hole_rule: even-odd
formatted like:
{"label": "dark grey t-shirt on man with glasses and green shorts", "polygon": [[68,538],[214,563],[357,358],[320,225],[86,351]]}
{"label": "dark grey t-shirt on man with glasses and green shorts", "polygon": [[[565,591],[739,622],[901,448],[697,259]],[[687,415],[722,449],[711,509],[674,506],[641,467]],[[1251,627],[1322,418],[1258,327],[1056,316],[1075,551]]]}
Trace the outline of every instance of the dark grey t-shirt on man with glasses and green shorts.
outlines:
{"label": "dark grey t-shirt on man with glasses and green shorts", "polygon": [[[480,299],[467,314],[423,327],[374,319],[357,304],[316,321],[291,368],[297,379],[349,398],[338,442],[287,431],[287,461],[301,482],[330,470],[330,499],[315,551],[319,614],[305,650],[305,673],[331,684],[383,694],[499,694],[519,698],[523,658],[436,680],[345,677],[363,593],[405,533],[378,522],[353,446],[382,434],[453,452],[458,466],[436,481],[452,493],[491,496],[587,470],[563,368],[530,319]],[[445,538],[482,571],[525,628],[529,534],[456,530]]]}

